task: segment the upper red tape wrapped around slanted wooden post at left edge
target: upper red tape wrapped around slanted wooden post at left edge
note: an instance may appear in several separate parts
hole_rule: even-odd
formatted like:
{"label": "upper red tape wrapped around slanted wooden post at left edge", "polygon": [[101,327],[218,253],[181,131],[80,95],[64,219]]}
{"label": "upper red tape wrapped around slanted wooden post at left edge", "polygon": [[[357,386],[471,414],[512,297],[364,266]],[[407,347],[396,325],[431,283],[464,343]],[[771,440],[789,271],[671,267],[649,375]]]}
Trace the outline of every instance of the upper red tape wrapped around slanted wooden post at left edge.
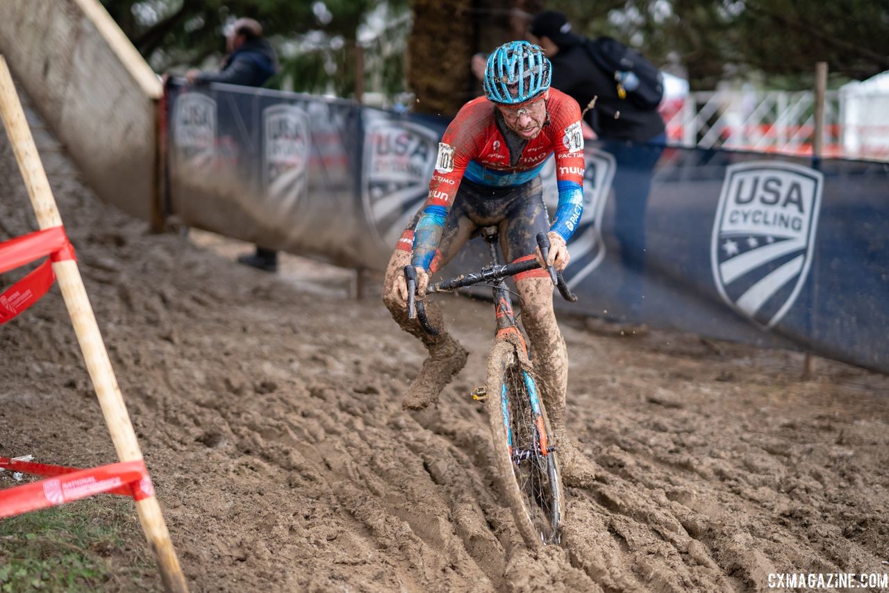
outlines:
{"label": "upper red tape wrapped around slanted wooden post at left edge", "polygon": [[50,289],[55,281],[52,261],[76,259],[62,227],[38,230],[0,243],[0,274],[47,255],[49,260],[0,294],[0,325],[28,309]]}

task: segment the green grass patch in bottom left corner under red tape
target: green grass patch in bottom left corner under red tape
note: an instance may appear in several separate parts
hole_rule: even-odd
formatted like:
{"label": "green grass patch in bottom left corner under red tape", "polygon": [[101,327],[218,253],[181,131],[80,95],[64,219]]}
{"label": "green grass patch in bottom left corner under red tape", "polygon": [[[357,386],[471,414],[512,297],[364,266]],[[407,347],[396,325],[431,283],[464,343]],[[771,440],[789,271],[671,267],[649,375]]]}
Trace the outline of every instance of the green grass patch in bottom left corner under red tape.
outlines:
{"label": "green grass patch in bottom left corner under red tape", "polygon": [[0,592],[158,584],[130,499],[98,496],[0,520]]}

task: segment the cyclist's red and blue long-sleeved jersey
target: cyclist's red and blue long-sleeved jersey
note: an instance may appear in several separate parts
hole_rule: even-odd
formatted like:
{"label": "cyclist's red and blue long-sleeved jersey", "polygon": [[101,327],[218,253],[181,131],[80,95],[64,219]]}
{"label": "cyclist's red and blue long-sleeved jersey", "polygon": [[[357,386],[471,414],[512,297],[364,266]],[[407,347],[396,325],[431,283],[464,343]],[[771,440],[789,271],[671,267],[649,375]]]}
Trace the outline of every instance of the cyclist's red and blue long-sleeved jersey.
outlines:
{"label": "cyclist's red and blue long-sleeved jersey", "polygon": [[412,264],[429,268],[461,180],[491,188],[513,188],[533,180],[556,156],[558,206],[550,228],[567,241],[583,213],[581,108],[563,92],[549,89],[547,120],[528,140],[516,164],[495,120],[494,104],[479,97],[461,108],[438,144],[436,170],[413,236]]}

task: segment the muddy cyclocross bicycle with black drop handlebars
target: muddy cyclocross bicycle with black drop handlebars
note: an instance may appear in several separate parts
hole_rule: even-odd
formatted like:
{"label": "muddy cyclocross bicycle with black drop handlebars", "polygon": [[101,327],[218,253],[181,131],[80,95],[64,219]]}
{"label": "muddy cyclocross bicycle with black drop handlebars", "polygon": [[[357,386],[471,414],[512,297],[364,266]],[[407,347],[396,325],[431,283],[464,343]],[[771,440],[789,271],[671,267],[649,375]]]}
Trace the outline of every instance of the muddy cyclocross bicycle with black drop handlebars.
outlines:
{"label": "muddy cyclocross bicycle with black drop handlebars", "polygon": [[[474,284],[493,289],[497,337],[488,357],[487,383],[473,391],[473,397],[484,400],[493,437],[498,480],[509,501],[516,525],[531,548],[541,544],[557,544],[565,515],[565,493],[559,477],[557,444],[550,437],[551,429],[541,398],[533,366],[528,359],[525,338],[519,331],[513,313],[505,278],[540,268],[537,260],[504,265],[497,249],[496,227],[482,229],[493,263],[475,274],[429,284],[426,293],[453,292]],[[537,236],[543,259],[549,252],[546,233]],[[416,270],[404,267],[408,284],[408,315],[418,318],[423,329],[432,335],[438,330],[429,324],[423,302],[415,298]],[[577,297],[565,284],[565,278],[554,268],[549,275],[567,301]]]}

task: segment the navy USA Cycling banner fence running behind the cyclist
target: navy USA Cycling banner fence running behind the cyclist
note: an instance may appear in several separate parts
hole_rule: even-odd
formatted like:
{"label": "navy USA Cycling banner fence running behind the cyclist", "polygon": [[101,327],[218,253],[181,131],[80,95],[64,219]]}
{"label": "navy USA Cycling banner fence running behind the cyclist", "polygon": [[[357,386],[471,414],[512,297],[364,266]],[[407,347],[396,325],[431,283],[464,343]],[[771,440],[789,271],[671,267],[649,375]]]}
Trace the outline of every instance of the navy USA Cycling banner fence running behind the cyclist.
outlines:
{"label": "navy USA Cycling banner fence running behind the cyclist", "polygon": [[[442,117],[211,84],[167,89],[169,211],[274,249],[382,269],[428,194]],[[889,372],[889,166],[584,143],[558,307]],[[557,162],[541,170],[557,205]],[[485,262],[470,244],[443,274]]]}

